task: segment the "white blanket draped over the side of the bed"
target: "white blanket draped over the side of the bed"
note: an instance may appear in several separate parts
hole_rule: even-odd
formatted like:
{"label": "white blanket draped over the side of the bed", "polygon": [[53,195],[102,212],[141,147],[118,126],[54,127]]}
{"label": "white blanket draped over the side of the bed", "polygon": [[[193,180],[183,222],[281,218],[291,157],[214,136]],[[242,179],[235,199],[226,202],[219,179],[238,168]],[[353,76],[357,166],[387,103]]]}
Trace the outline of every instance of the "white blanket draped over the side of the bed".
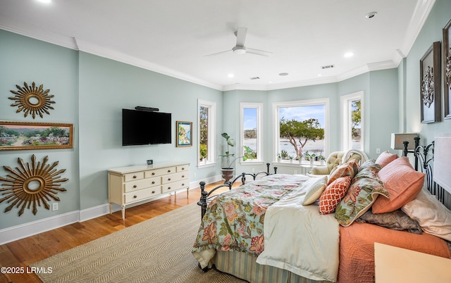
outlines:
{"label": "white blanket draped over the side of the bed", "polygon": [[[312,178],[313,179],[313,178]],[[340,229],[333,214],[320,215],[318,206],[302,206],[305,187],[266,210],[261,265],[289,270],[302,277],[336,282]]]}

